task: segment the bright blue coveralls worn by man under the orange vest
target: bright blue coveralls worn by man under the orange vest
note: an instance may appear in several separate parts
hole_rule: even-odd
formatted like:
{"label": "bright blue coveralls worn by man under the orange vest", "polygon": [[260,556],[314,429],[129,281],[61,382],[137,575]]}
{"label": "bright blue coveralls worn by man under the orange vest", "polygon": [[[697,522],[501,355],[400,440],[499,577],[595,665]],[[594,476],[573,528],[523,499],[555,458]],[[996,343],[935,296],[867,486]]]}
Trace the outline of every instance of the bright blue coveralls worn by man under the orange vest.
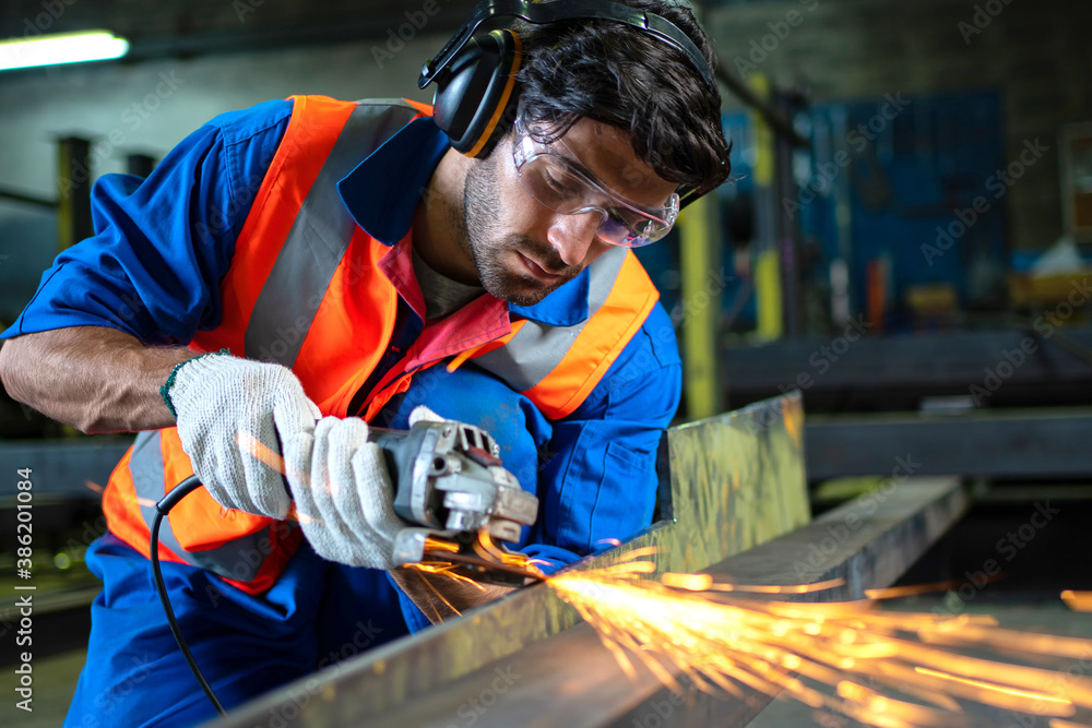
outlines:
{"label": "bright blue coveralls worn by man under the orange vest", "polygon": [[[4,337],[64,326],[109,326],[149,344],[186,344],[221,315],[219,282],[250,201],[287,127],[292,102],[225,114],[173,150],[141,180],[108,175],[93,190],[95,236],[64,251]],[[344,200],[369,235],[391,244],[440,157],[442,132],[411,124],[349,175]],[[411,133],[407,130],[415,129]],[[393,204],[392,204],[392,201]],[[512,313],[566,325],[587,315],[585,272]],[[400,291],[401,293],[401,291]],[[400,317],[385,370],[420,332]],[[651,522],[655,453],[678,405],[674,330],[657,305],[610,371],[571,415],[547,420],[473,363],[419,372],[377,423],[404,428],[427,404],[497,438],[506,466],[539,498],[522,551],[546,571],[624,539]],[[87,665],[66,726],[190,726],[215,714],[175,645],[150,562],[111,534],[87,565],[104,588],[92,607]],[[202,569],[167,562],[164,577],[183,635],[226,707],[428,624],[385,572],[316,556],[306,541],[276,584],[251,596]]]}

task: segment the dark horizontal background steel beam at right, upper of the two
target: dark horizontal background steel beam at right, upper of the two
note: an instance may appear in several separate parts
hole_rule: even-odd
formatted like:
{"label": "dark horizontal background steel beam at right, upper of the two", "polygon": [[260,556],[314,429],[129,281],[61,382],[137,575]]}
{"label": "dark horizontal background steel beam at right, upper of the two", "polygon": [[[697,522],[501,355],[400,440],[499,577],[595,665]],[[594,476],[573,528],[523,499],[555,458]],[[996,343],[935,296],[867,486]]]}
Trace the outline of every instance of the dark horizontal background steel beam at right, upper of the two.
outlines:
{"label": "dark horizontal background steel beam at right, upper of the two", "polygon": [[913,410],[931,395],[977,395],[988,407],[1092,404],[1092,326],[1052,324],[1044,333],[1032,324],[865,337],[866,324],[856,322],[829,338],[729,348],[724,377],[732,406],[803,389],[809,414]]}

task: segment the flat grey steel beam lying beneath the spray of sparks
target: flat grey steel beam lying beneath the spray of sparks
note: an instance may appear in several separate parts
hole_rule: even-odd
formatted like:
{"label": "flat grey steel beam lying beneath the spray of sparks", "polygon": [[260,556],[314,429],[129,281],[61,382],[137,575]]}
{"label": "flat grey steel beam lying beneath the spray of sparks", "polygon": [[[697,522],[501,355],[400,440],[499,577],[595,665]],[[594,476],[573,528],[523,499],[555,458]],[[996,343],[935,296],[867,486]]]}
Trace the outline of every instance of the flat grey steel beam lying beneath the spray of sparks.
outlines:
{"label": "flat grey steel beam lying beneath the spray of sparks", "polygon": [[[741,583],[798,584],[842,577],[845,584],[802,598],[855,599],[865,588],[892,584],[958,520],[969,504],[954,478],[894,480],[810,525],[731,557],[707,569]],[[548,588],[548,587],[536,587]],[[367,725],[369,728],[450,728],[473,719],[480,728],[593,728],[598,726],[743,726],[770,702],[748,692],[746,700],[693,692],[674,695],[638,660],[630,680],[586,624],[526,646],[468,675],[424,692],[415,700],[376,707],[357,683],[339,678],[316,688],[299,711],[300,725]],[[388,669],[396,660],[387,664]],[[351,668],[346,669],[346,677]],[[352,673],[357,670],[352,669]],[[372,680],[385,682],[389,672]],[[407,676],[408,677],[408,676]],[[298,691],[299,688],[296,688]],[[301,693],[286,692],[297,702]],[[224,725],[247,726],[294,714],[289,703],[269,702]],[[312,707],[313,706],[313,707]],[[296,725],[288,720],[287,725]]]}

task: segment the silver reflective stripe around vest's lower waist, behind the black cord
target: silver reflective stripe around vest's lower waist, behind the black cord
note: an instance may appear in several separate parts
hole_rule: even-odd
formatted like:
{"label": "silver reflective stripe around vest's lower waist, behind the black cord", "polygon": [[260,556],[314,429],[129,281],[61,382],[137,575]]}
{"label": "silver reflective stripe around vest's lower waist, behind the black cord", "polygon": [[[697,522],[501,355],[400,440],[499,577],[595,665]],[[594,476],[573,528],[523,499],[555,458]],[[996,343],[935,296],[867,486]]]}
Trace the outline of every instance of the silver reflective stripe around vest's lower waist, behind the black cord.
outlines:
{"label": "silver reflective stripe around vest's lower waist, behind the black cord", "polygon": [[[129,475],[133,479],[133,489],[136,491],[136,497],[147,503],[146,505],[141,503],[140,513],[149,530],[152,529],[152,520],[155,517],[155,508],[152,503],[158,502],[165,493],[161,441],[159,430],[141,432],[133,442],[133,454],[129,460]],[[258,533],[237,538],[219,548],[187,551],[175,538],[175,532],[170,527],[170,516],[159,524],[159,542],[174,551],[178,558],[191,565],[240,582],[249,582],[258,575],[258,570],[262,568],[271,550],[269,535],[270,528],[266,526]],[[264,544],[263,538],[266,539]],[[263,545],[264,549],[261,548]]]}

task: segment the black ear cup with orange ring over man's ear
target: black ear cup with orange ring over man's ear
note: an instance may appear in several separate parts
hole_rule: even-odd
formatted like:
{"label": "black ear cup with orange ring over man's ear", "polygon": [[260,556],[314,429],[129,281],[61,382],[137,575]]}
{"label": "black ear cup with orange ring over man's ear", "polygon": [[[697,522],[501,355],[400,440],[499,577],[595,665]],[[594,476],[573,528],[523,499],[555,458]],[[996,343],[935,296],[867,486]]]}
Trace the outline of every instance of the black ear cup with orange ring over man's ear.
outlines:
{"label": "black ear cup with orange ring over man's ear", "polygon": [[484,157],[505,135],[520,49],[519,36],[509,29],[476,34],[436,77],[432,118],[456,151]]}

